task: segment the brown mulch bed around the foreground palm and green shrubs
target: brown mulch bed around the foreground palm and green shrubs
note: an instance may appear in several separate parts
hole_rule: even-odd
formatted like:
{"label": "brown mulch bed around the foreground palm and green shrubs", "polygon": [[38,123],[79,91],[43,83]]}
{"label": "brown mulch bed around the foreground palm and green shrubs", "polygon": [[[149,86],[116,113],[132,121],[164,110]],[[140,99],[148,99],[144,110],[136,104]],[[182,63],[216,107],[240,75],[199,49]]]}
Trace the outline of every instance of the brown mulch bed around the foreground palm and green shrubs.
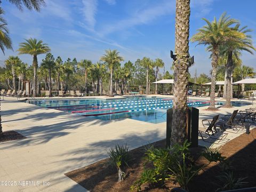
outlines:
{"label": "brown mulch bed around the foreground palm and green shrubs", "polygon": [[[154,145],[155,147],[165,147],[165,140],[158,141]],[[197,158],[201,149],[194,148],[191,154]],[[90,191],[129,191],[131,185],[139,179],[143,171],[145,163],[143,159],[144,151],[144,147],[130,151],[134,159],[130,162],[130,167],[125,170],[126,178],[122,183],[117,182],[117,170],[108,164],[109,159],[103,159],[92,165],[68,172],[65,175]],[[247,177],[245,180],[248,182],[246,187],[256,186],[256,129],[251,130],[249,135],[244,133],[229,141],[221,147],[220,152],[222,156],[227,157],[231,166],[235,168],[234,174],[236,178]],[[207,164],[207,160],[204,157],[197,158],[196,164]],[[219,174],[220,170],[217,163],[211,163],[191,182],[189,191],[215,191],[218,188],[216,183],[219,182],[216,175]],[[144,185],[142,190],[152,192],[170,191],[173,187],[178,187],[178,184],[174,185],[171,181],[166,181],[164,188],[150,189],[147,185]]]}

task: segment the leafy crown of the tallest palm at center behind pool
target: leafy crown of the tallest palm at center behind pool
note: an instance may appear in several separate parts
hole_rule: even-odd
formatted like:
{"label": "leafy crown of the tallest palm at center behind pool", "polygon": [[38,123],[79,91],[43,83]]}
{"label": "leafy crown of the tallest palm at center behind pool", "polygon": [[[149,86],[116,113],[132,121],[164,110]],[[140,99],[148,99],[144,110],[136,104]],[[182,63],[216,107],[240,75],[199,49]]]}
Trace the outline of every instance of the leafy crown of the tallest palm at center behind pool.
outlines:
{"label": "leafy crown of the tallest palm at center behind pool", "polygon": [[119,52],[117,50],[106,50],[106,53],[100,58],[101,61],[104,61],[108,64],[109,69],[113,69],[115,63],[119,63],[124,59],[119,56]]}

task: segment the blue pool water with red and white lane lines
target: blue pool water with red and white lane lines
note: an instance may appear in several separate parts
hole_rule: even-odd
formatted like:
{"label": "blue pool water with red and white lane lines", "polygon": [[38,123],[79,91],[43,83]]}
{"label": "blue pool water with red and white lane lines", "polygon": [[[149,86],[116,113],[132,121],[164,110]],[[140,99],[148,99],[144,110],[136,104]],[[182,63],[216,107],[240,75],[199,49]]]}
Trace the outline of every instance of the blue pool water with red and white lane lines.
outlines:
{"label": "blue pool water with red and white lane lines", "polygon": [[[102,120],[131,118],[149,123],[166,121],[166,110],[172,108],[172,99],[159,97],[129,97],[122,99],[63,99],[28,100],[28,103],[66,111]],[[223,105],[222,102],[216,103]],[[209,101],[189,100],[189,107],[203,107]],[[249,105],[245,102],[233,102],[233,106]]]}

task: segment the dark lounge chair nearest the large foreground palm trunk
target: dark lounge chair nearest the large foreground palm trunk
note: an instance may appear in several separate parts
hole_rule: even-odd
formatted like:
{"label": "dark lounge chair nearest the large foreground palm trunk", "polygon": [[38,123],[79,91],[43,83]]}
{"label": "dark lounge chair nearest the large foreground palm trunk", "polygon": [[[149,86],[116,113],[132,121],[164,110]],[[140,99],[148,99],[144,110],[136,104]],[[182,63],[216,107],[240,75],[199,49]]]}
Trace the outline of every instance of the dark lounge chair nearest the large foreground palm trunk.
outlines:
{"label": "dark lounge chair nearest the large foreground palm trunk", "polygon": [[[211,119],[203,119],[202,124],[204,127],[207,127],[205,131],[198,131],[201,138],[205,142],[214,143],[218,140],[217,144],[220,142],[227,142],[229,139],[227,138],[228,133],[218,132],[216,129],[216,123],[218,122],[219,115],[215,115],[212,120]],[[209,125],[206,126],[205,123],[208,122]],[[213,140],[213,141],[212,141]]]}

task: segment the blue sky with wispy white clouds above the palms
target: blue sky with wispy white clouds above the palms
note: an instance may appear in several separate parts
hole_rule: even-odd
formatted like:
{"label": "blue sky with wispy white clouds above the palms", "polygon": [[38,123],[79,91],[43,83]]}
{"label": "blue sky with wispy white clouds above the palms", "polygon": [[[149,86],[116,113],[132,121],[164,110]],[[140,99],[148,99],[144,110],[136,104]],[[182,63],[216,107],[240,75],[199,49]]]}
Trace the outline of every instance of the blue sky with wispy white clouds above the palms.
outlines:
{"label": "blue sky with wispy white clouds above the palms", "polygon": [[[90,59],[99,61],[107,49],[116,49],[124,62],[134,62],[143,57],[161,58],[165,71],[171,71],[170,50],[174,50],[175,1],[174,0],[45,0],[40,12],[26,8],[19,11],[9,1],[2,1],[13,50],[0,53],[0,65],[10,55],[18,55],[19,43],[27,38],[42,39],[55,58]],[[256,46],[256,1],[254,0],[191,0],[190,37],[210,21],[227,12],[242,26],[253,30]],[[203,45],[190,43],[190,55],[195,64],[190,74],[205,73],[211,69],[210,53]],[[30,55],[19,55],[23,62],[32,63]],[[39,55],[39,63],[45,55]],[[243,65],[254,67],[256,56],[243,52]],[[124,63],[123,62],[123,63]],[[163,69],[161,70],[163,73]]]}

